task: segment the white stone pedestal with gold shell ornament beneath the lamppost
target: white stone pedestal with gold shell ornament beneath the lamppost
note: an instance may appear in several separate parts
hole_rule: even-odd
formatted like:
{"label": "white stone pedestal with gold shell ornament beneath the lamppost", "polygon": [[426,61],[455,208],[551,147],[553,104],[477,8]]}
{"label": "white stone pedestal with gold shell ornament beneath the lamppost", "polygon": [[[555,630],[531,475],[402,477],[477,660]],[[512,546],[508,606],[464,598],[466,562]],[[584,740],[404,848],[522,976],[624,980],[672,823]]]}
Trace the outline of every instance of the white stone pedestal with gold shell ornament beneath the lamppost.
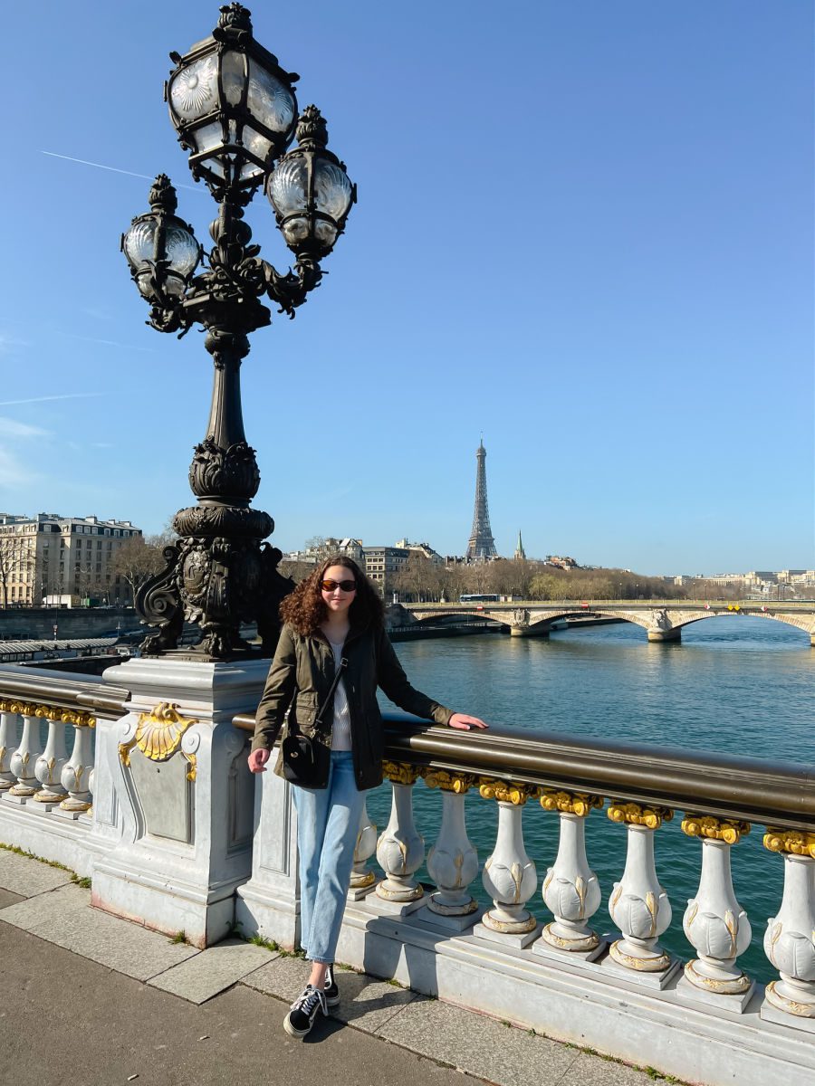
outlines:
{"label": "white stone pedestal with gold shell ornament beneath the lamppost", "polygon": [[199,947],[229,934],[251,873],[255,791],[248,736],[231,719],[256,705],[267,669],[162,657],[108,672],[131,698],[97,752],[96,781],[112,782],[99,832],[121,824],[93,868],[97,908]]}

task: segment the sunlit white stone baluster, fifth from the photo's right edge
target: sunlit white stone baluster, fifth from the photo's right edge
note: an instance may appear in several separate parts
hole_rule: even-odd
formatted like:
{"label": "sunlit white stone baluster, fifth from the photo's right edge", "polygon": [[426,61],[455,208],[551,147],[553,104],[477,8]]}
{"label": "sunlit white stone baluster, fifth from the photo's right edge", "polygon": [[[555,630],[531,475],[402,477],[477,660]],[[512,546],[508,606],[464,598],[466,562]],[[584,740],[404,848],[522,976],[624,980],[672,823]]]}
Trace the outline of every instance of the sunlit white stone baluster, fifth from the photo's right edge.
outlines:
{"label": "sunlit white stone baluster, fifth from the photo's right edge", "polygon": [[529,796],[537,787],[482,780],[479,792],[484,799],[498,800],[498,834],[496,848],[484,864],[481,881],[492,898],[473,934],[512,946],[525,947],[536,937],[539,924],[526,904],[538,886],[538,872],[524,847],[523,813]]}

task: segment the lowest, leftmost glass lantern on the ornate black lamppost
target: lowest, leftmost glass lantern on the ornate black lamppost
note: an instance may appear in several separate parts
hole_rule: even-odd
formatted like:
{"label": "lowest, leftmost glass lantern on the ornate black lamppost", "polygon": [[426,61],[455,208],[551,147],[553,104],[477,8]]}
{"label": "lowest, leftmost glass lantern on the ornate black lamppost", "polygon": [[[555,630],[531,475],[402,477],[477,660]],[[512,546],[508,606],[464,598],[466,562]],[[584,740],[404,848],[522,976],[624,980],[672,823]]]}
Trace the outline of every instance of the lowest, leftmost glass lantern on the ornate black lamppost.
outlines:
{"label": "lowest, leftmost glass lantern on the ornate black lamppost", "polygon": [[122,235],[122,252],[142,298],[180,298],[201,258],[192,228],[175,215],[175,189],[159,174],[150,190],[150,211],[139,215]]}

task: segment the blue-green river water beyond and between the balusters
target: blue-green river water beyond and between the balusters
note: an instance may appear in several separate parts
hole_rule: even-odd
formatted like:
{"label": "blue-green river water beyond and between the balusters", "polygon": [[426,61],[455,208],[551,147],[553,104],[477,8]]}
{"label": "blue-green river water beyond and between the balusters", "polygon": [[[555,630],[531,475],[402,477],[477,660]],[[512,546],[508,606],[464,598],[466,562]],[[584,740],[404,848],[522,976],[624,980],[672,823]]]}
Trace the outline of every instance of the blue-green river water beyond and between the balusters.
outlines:
{"label": "blue-green river water beyond and between the balusters", "polygon": [[[402,642],[397,653],[411,681],[432,697],[488,722],[519,729],[562,730],[598,738],[632,740],[756,758],[815,763],[812,708],[815,649],[808,635],[780,622],[744,616],[705,619],[682,630],[681,643],[649,644],[639,627],[557,631],[549,639],[498,634]],[[393,708],[381,698],[383,708]],[[372,794],[368,812],[381,830],[390,788]],[[497,807],[467,794],[467,832],[487,859],[494,843]],[[438,793],[417,784],[416,824],[432,844]],[[699,885],[701,846],[679,829],[681,812],[656,834],[656,869],[674,909],[663,944],[684,960],[692,948],[681,931],[687,900]],[[557,849],[557,817],[537,803],[524,809],[526,849],[539,887],[529,907],[551,919],[540,884]],[[604,811],[587,824],[589,863],[603,889],[593,926],[611,927],[609,894],[625,866],[626,831]],[[755,825],[732,849],[736,895],[753,927],[740,961],[756,980],[773,978],[762,939],[780,906],[783,861],[762,847]],[[419,877],[427,874],[419,872]],[[471,887],[488,904],[480,877]]]}

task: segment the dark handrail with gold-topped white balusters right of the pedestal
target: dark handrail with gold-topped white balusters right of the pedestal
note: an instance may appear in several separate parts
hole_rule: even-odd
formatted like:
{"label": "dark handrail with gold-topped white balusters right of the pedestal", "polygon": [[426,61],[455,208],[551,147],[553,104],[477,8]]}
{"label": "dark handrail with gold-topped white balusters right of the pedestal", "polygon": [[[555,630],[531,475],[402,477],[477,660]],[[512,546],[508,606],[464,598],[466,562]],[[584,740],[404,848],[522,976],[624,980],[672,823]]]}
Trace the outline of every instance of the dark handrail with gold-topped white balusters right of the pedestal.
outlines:
{"label": "dark handrail with gold-topped white balusters right of the pedestal", "polygon": [[[252,727],[246,716],[235,723]],[[815,766],[544,731],[451,732],[388,716],[385,770],[392,784],[390,821],[377,839],[365,813],[352,885],[358,896],[361,887],[372,887],[372,909],[396,908],[405,915],[426,905],[414,924],[469,932],[550,964],[602,961],[605,976],[644,984],[657,995],[670,987],[672,999],[676,988],[691,1003],[713,997],[728,1012],[743,1012],[755,992],[739,963],[751,925],[734,887],[730,854],[751,826],[758,828],[767,862],[782,857],[786,871],[783,897],[764,938],[776,975],[762,1014],[815,1025]],[[426,855],[429,889],[416,879],[425,861],[413,816],[419,781],[441,795],[438,834]],[[471,892],[479,864],[464,806],[465,794],[476,790],[498,806],[494,846],[480,869],[492,900],[482,914]],[[532,803],[539,816],[559,818],[556,856],[529,856],[523,812]],[[607,946],[600,934],[604,925],[594,919],[601,887],[586,851],[589,816],[597,812],[597,819],[603,809],[627,834],[625,869],[609,905],[618,932]],[[681,921],[689,944],[684,962],[660,944],[672,907],[654,854],[654,838],[675,812],[681,813],[688,848],[701,851],[699,888]],[[367,868],[374,851],[381,874]],[[543,923],[530,907],[541,881],[551,914]]]}

